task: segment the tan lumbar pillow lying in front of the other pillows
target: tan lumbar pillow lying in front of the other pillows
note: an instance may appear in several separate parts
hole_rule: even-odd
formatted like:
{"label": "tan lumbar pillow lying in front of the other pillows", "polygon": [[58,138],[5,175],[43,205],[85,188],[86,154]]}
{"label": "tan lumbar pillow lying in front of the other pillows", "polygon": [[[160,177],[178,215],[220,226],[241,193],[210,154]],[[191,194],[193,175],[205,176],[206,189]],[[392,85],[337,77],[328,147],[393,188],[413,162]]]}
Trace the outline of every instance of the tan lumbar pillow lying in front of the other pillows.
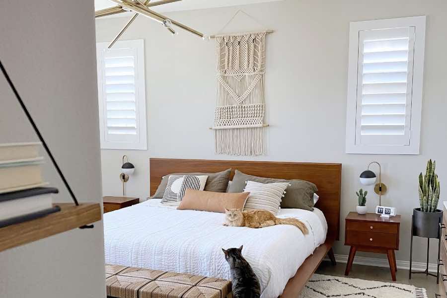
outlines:
{"label": "tan lumbar pillow lying in front of the other pillows", "polygon": [[225,208],[243,209],[249,194],[249,192],[219,193],[187,189],[177,209],[225,213]]}

